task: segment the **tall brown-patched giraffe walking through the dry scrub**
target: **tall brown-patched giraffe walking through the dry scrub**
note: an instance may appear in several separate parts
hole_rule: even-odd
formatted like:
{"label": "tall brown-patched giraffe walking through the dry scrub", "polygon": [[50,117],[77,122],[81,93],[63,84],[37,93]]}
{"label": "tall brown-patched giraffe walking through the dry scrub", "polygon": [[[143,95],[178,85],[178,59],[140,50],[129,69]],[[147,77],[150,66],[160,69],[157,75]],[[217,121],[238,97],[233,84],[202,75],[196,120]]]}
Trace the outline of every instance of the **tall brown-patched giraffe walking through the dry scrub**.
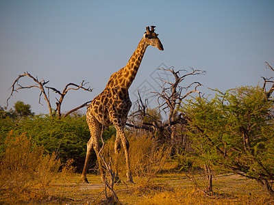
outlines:
{"label": "tall brown-patched giraffe walking through the dry scrub", "polygon": [[127,113],[132,107],[132,102],[129,99],[128,89],[136,77],[147,46],[151,45],[158,48],[160,51],[164,51],[164,47],[158,38],[158,34],[154,32],[154,28],[155,26],[151,26],[151,29],[146,27],[147,31],[144,33],[144,36],[140,40],[136,51],[134,51],[127,65],[110,76],[110,79],[108,80],[108,83],[105,86],[103,92],[101,92],[101,94],[92,100],[87,109],[86,120],[88,122],[91,137],[87,143],[86,161],[82,172],[83,182],[88,183],[86,173],[92,148],[94,148],[97,154],[101,179],[104,180],[105,176],[102,172],[103,170],[99,158],[99,139],[101,138],[102,128],[108,127],[112,124],[116,128],[116,139],[114,144],[115,178],[116,180],[119,180],[116,157],[121,150],[122,144],[125,150],[127,182],[133,182],[129,169],[129,142],[127,141],[127,137],[124,133],[125,122],[127,121]]}

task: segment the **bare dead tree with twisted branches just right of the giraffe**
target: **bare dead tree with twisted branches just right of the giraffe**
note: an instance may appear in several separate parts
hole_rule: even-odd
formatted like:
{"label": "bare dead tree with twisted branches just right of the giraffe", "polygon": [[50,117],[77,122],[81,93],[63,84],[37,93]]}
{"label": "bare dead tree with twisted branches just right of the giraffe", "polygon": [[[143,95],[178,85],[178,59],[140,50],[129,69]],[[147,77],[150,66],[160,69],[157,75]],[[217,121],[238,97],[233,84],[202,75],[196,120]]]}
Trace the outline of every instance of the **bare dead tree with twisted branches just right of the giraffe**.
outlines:
{"label": "bare dead tree with twisted branches just right of the giraffe", "polygon": [[[139,94],[139,98],[134,106],[135,109],[129,115],[129,123],[126,125],[132,128],[139,128],[149,132],[158,133],[160,139],[171,140],[171,146],[173,146],[173,143],[175,143],[175,128],[177,124],[182,124],[182,128],[184,124],[186,124],[183,114],[178,111],[179,107],[182,106],[183,100],[192,93],[197,93],[200,96],[203,94],[198,90],[201,83],[195,81],[184,87],[182,82],[187,77],[205,74],[206,72],[203,70],[195,70],[193,68],[191,68],[191,72],[186,72],[186,70],[175,71],[173,67],[159,70],[170,72],[173,77],[173,81],[160,79],[163,84],[160,88],[160,92],[153,92],[155,96],[158,96],[159,111],[164,111],[168,120],[162,122],[153,118],[154,116],[149,114],[149,109],[147,108],[147,99],[142,100]],[[186,74],[181,74],[183,71],[186,72]],[[149,118],[149,122],[145,122],[145,118]],[[136,121],[138,122],[137,124]],[[182,139],[182,141],[186,140]]]}

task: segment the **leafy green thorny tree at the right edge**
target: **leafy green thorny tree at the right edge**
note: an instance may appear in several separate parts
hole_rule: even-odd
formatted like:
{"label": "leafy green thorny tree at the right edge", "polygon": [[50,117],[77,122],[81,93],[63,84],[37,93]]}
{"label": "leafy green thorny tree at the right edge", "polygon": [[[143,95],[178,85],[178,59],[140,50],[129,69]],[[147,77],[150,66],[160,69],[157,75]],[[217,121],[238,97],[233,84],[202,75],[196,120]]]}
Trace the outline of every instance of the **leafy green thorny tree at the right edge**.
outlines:
{"label": "leafy green thorny tree at the right edge", "polygon": [[217,91],[184,106],[188,135],[203,165],[257,180],[274,197],[273,99],[260,87]]}

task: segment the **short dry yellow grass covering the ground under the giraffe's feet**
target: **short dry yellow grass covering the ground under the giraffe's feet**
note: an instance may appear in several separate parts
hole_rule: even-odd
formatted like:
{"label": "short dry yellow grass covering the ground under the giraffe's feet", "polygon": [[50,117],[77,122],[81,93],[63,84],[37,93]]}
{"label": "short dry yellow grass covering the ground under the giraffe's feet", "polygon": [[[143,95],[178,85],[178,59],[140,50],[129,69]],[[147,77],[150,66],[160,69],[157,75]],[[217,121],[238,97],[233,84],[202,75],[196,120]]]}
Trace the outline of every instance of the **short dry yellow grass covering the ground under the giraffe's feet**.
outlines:
{"label": "short dry yellow grass covering the ground under the giraffe's feet", "polygon": [[[99,176],[88,175],[90,184],[82,184],[79,179],[79,174],[72,174],[67,182],[56,178],[47,189],[49,197],[36,202],[101,204],[105,200]],[[203,188],[204,179],[199,176],[196,179]],[[256,182],[233,174],[216,176],[213,193],[195,189],[185,174],[160,174],[147,184],[143,178],[134,180],[135,184],[122,182],[114,186],[122,204],[274,204]],[[3,202],[2,199],[0,204]]]}

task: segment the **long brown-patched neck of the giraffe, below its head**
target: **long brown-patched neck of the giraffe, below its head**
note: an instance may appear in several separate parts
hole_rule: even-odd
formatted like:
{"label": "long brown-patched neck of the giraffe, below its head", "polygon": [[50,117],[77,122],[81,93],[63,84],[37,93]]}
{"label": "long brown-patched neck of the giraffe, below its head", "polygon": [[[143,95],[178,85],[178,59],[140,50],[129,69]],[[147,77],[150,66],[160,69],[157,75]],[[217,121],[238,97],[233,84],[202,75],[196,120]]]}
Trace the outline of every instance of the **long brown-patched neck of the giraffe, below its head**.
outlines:
{"label": "long brown-patched neck of the giraffe, below its head", "polygon": [[132,85],[132,82],[134,81],[140,67],[142,57],[144,57],[147,46],[148,44],[145,42],[145,38],[142,38],[138,44],[137,49],[134,51],[132,57],[130,57],[129,61],[127,62],[125,68],[121,69],[123,70],[123,80],[121,81],[121,85],[123,87],[128,89],[130,85]]}

